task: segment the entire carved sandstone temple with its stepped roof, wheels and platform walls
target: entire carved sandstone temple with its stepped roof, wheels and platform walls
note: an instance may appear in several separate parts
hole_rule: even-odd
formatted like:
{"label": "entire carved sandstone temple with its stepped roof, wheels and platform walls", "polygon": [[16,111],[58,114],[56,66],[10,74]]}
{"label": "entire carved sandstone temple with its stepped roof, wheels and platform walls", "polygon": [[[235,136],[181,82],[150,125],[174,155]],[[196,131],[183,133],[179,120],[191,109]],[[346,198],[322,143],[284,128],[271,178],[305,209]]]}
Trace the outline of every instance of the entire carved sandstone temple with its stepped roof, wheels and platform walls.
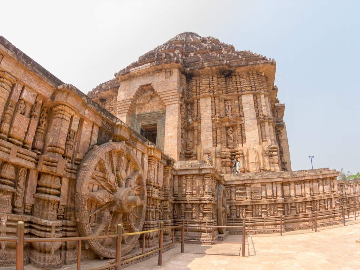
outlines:
{"label": "entire carved sandstone temple with its stepped roof, wheels and platform walls", "polygon": [[[329,168],[291,170],[275,69],[274,59],[184,32],[85,95],[0,37],[0,236],[14,236],[19,220],[26,237],[45,238],[185,220],[199,226],[186,238],[203,242],[211,232],[201,226],[244,219],[253,233],[279,232],[280,216],[298,221],[283,230],[309,228],[314,211],[323,226],[339,223],[334,210],[359,201],[360,183],[338,185]],[[238,231],[215,237],[229,233]],[[122,256],[158,238],[124,237]],[[0,265],[14,265],[15,244],[0,246]],[[76,241],[24,250],[39,268],[77,260]],[[114,256],[111,238],[83,241],[81,260]]]}

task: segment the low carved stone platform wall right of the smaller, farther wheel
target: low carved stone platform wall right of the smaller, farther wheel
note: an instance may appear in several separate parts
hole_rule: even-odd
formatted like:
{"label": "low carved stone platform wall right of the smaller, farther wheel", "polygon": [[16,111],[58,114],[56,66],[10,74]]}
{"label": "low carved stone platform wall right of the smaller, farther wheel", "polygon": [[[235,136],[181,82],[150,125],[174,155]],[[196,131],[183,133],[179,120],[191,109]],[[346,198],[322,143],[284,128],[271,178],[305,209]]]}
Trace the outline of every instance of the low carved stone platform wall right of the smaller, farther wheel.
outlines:
{"label": "low carved stone platform wall right of the smaller, farther wheel", "polygon": [[294,225],[294,220],[288,217],[294,217],[299,228],[305,228],[310,223],[309,215],[320,211],[324,213],[318,219],[327,219],[332,224],[339,220],[332,211],[340,207],[337,176],[336,170],[328,168],[225,174],[226,199],[230,206],[228,223],[241,225],[246,219],[255,231],[279,230],[279,217],[283,216],[284,229]]}

